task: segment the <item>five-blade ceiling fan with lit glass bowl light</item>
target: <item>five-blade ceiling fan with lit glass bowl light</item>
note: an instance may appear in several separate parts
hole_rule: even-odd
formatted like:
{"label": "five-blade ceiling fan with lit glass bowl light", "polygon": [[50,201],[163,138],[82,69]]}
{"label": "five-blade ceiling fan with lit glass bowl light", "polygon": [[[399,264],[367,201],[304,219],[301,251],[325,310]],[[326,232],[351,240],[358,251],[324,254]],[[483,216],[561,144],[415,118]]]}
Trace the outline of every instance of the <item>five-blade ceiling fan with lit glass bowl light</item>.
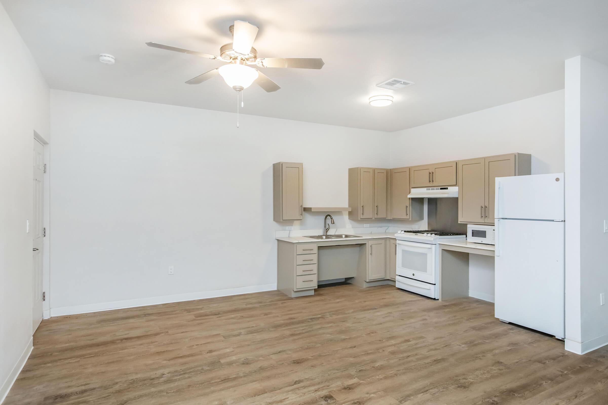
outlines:
{"label": "five-blade ceiling fan with lit glass bowl light", "polygon": [[249,24],[247,21],[235,21],[234,25],[230,26],[230,33],[232,33],[232,43],[219,48],[219,56],[153,42],[148,42],[146,45],[226,62],[226,65],[202,73],[202,75],[198,75],[185,83],[200,84],[219,74],[228,86],[237,91],[237,94],[249,87],[254,81],[267,92],[275,92],[281,88],[260,70],[249,67],[249,65],[256,67],[299,67],[300,69],[321,69],[323,67],[324,63],[321,58],[258,58],[257,50],[252,47],[258,33],[258,27]]}

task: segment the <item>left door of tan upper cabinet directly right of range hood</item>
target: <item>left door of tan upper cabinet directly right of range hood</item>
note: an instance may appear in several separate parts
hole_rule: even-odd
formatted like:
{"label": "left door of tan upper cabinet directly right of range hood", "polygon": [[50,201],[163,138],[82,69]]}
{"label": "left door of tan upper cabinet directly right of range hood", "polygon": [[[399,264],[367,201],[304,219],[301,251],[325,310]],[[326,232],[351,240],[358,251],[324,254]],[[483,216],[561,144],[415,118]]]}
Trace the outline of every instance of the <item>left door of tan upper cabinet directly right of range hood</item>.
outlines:
{"label": "left door of tan upper cabinet directly right of range hood", "polygon": [[485,222],[485,159],[458,162],[458,221]]}

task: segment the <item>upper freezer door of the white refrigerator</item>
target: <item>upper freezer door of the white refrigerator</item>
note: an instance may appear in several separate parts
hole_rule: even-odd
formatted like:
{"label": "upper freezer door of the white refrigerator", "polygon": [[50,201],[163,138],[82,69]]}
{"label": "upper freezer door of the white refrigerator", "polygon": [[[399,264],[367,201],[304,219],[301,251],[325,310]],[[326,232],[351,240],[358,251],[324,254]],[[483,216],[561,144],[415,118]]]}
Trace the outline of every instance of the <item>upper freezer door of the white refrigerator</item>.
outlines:
{"label": "upper freezer door of the white refrigerator", "polygon": [[495,195],[494,218],[564,220],[564,173],[497,177]]}

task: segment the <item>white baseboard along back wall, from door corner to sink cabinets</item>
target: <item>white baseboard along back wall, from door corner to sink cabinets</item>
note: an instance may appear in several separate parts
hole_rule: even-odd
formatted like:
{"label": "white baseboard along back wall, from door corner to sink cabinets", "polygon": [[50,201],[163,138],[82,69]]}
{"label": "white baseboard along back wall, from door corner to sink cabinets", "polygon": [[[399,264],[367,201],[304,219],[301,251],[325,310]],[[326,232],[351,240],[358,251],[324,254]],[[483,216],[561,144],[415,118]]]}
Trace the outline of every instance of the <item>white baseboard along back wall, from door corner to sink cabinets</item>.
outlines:
{"label": "white baseboard along back wall, from door corner to sink cabinets", "polygon": [[50,316],[75,315],[97,311],[110,311],[122,308],[145,307],[146,305],[167,304],[169,302],[193,301],[195,299],[206,299],[226,297],[229,295],[260,293],[261,291],[272,291],[277,289],[277,284],[252,285],[249,287],[226,288],[224,290],[201,291],[198,293],[185,293],[165,295],[161,297],[126,299],[125,301],[99,302],[98,304],[74,305],[73,307],[50,308]]}

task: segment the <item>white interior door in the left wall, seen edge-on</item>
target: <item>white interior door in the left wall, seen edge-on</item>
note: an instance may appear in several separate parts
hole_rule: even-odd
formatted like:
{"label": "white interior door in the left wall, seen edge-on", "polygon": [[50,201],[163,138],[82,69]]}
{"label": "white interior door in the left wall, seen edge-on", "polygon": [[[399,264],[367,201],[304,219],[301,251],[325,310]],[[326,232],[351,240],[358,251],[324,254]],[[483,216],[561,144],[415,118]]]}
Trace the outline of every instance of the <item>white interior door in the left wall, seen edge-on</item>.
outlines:
{"label": "white interior door in the left wall, seen edge-on", "polygon": [[44,146],[34,139],[33,150],[33,213],[32,233],[32,332],[42,321],[42,248],[43,248],[43,185]]}

